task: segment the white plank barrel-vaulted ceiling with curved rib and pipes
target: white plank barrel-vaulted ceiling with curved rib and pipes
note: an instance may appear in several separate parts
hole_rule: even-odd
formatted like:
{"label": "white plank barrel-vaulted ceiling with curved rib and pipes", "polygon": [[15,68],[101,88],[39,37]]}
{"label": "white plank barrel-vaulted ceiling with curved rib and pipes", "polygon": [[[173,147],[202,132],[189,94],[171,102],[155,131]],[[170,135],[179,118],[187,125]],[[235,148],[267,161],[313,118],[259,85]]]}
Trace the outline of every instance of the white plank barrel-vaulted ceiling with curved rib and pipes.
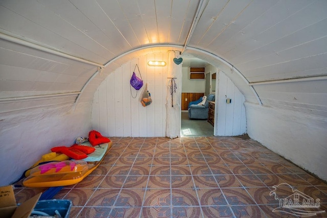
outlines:
{"label": "white plank barrel-vaulted ceiling with curved rib and pipes", "polygon": [[326,36],[323,0],[1,0],[0,99],[89,102],[98,69],[178,50],[247,100],[327,116]]}

